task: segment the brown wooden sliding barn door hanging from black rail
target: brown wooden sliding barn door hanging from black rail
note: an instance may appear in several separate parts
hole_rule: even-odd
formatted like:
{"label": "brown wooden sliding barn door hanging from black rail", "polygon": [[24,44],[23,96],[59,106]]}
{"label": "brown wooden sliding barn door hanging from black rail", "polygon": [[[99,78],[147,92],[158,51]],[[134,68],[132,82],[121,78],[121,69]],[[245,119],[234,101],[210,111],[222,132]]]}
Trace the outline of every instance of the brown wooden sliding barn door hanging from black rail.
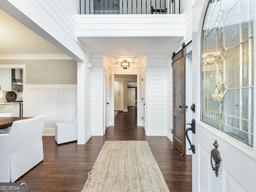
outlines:
{"label": "brown wooden sliding barn door hanging from black rail", "polygon": [[173,145],[186,155],[186,49],[174,56],[172,65],[173,81]]}

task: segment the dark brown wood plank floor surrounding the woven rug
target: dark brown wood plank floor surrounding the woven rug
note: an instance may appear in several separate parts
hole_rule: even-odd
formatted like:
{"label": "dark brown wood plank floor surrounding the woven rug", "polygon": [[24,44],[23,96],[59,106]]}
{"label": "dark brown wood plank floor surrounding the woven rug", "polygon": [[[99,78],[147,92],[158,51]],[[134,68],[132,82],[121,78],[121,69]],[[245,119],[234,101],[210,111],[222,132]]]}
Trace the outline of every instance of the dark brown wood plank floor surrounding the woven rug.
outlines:
{"label": "dark brown wood plank floor surrounding the woven rug", "polygon": [[146,136],[136,122],[135,108],[118,112],[115,126],[85,145],[57,145],[54,136],[44,136],[44,160],[16,182],[26,182],[30,192],[80,192],[105,141],[140,140],[148,141],[170,192],[191,192],[192,156],[181,156],[167,137]]}

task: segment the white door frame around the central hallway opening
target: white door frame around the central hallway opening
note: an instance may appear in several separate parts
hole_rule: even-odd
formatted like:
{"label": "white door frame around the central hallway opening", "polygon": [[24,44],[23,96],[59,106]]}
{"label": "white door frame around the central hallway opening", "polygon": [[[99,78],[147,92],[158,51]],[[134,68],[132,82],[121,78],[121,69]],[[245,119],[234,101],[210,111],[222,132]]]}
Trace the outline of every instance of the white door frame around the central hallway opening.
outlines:
{"label": "white door frame around the central hallway opening", "polygon": [[111,73],[111,95],[110,95],[110,123],[109,126],[114,126],[114,75],[137,75],[137,126],[142,126],[142,115],[141,115],[141,86],[140,86],[140,73],[139,72],[130,72],[130,73],[121,73],[121,72],[112,72]]}

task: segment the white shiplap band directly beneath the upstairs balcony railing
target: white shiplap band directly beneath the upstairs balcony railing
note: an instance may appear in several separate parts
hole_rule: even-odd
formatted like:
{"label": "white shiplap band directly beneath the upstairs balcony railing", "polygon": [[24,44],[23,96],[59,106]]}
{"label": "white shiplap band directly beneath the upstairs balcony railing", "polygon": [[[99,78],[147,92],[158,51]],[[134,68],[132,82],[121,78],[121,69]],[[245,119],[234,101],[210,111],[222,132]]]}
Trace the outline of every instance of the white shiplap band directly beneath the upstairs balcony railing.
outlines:
{"label": "white shiplap band directly beneath the upstairs balcony railing", "polygon": [[78,37],[184,35],[184,14],[76,15]]}

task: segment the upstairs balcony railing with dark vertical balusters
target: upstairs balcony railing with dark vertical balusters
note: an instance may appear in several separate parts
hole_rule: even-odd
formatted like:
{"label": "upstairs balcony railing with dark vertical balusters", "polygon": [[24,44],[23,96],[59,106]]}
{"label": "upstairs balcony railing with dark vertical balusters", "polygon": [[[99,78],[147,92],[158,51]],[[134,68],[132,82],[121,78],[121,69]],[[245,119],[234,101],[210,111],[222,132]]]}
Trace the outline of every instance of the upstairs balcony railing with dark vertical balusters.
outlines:
{"label": "upstairs balcony railing with dark vertical balusters", "polygon": [[180,14],[180,0],[80,0],[80,14]]}

